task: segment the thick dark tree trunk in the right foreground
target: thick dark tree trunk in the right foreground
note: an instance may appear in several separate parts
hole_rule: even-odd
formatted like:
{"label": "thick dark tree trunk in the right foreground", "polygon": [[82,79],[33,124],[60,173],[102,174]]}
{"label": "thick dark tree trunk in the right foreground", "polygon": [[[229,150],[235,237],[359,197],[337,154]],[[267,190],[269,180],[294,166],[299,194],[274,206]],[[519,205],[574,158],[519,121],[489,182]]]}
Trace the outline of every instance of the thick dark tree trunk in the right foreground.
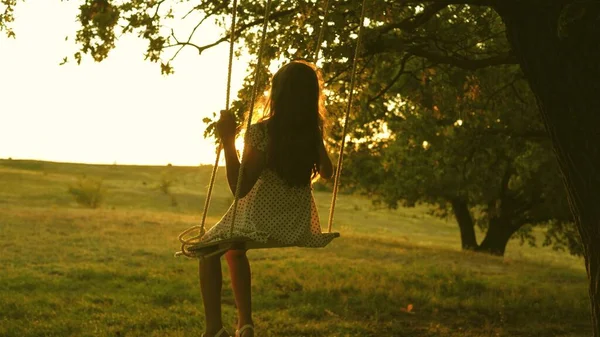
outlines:
{"label": "thick dark tree trunk in the right foreground", "polygon": [[593,336],[600,337],[600,2],[498,3],[585,245]]}

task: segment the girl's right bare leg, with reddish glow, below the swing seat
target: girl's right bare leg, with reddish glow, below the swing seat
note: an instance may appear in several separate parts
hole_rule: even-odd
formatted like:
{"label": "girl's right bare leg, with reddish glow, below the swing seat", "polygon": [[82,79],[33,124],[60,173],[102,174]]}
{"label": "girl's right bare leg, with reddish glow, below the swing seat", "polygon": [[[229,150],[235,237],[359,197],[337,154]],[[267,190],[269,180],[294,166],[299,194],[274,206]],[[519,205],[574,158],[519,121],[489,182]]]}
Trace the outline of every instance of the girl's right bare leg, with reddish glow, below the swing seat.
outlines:
{"label": "girl's right bare leg, with reddish glow, below the swing seat", "polygon": [[[231,285],[238,309],[238,329],[252,322],[252,295],[250,262],[245,250],[229,250],[225,254],[231,273]],[[243,337],[254,336],[252,330],[244,332]]]}

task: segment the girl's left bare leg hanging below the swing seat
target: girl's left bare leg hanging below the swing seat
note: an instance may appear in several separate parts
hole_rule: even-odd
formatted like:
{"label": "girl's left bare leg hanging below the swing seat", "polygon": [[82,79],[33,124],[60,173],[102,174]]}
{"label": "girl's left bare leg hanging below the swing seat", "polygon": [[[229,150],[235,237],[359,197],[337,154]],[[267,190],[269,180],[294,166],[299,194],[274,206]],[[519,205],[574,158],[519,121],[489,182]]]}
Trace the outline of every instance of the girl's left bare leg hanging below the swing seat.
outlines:
{"label": "girl's left bare leg hanging below the swing seat", "polygon": [[200,259],[200,290],[204,302],[207,336],[214,336],[223,327],[221,318],[221,288],[223,284],[221,255]]}

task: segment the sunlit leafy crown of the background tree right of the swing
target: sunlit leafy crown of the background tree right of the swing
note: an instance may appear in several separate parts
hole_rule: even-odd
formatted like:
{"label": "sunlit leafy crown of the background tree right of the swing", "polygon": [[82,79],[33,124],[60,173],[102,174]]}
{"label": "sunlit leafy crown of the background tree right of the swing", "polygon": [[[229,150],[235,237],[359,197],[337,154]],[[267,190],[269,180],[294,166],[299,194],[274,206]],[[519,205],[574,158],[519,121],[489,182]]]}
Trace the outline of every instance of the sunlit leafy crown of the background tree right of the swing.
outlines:
{"label": "sunlit leafy crown of the background tree right of the swing", "polygon": [[[391,136],[354,144],[346,181],[376,202],[433,204],[433,213],[443,217],[456,214],[460,202],[474,217],[466,219],[469,223],[486,230],[502,226],[506,240],[516,232],[535,244],[531,225],[541,224],[552,229],[545,244],[562,242],[565,237],[557,240],[557,235],[565,232],[556,228],[572,228],[571,216],[550,140],[522,74],[514,66],[467,76],[456,69],[434,69],[426,70],[425,88],[417,88],[427,92],[429,104],[419,102],[418,92],[403,90],[396,101],[386,102]],[[487,235],[495,233],[488,230]],[[504,252],[504,246],[478,247],[476,242],[463,242],[463,247]]]}

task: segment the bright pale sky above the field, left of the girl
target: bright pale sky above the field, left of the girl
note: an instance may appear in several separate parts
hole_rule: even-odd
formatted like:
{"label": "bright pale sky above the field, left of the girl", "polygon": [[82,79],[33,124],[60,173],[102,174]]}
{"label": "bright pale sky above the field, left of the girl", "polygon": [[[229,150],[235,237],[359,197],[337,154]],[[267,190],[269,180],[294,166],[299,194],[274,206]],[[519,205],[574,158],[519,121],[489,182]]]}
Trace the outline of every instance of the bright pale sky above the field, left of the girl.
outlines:
{"label": "bright pale sky above the field, left of the girl", "polygon": [[[225,106],[228,45],[202,55],[184,49],[169,76],[144,60],[146,42],[134,36],[121,37],[100,63],[84,57],[81,65],[60,66],[77,51],[77,5],[19,2],[12,24],[16,39],[0,34],[0,158],[212,164],[214,141],[203,138],[202,119]],[[202,43],[222,32],[205,24],[199,33]],[[234,59],[234,97],[248,60]]]}

